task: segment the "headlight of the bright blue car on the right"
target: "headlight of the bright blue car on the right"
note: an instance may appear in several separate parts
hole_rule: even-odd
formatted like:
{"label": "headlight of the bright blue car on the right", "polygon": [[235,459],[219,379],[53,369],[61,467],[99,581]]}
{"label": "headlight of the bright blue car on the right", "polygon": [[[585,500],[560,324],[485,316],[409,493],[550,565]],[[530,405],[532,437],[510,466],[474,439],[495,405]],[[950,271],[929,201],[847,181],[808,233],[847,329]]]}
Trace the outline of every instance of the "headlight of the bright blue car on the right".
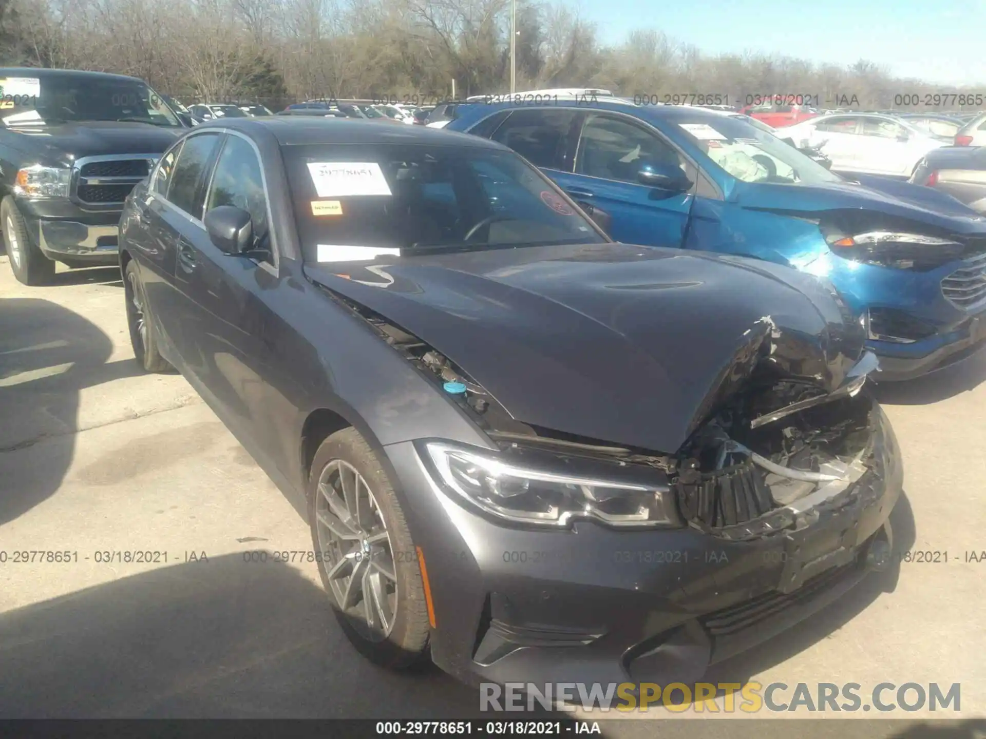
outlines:
{"label": "headlight of the bright blue car on the right", "polygon": [[965,245],[951,238],[890,231],[865,234],[826,234],[825,240],[835,254],[863,264],[897,269],[928,270],[956,259]]}

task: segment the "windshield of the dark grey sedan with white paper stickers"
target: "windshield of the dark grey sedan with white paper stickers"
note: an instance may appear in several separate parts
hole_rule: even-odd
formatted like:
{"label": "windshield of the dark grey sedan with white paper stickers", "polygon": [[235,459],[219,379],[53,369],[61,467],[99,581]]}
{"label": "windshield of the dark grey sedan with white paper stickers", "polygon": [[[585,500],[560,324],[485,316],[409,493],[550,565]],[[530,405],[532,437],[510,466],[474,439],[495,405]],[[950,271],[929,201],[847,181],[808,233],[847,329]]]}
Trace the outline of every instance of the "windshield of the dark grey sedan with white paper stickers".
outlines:
{"label": "windshield of the dark grey sedan with white paper stickers", "polygon": [[367,249],[408,255],[606,240],[513,152],[397,144],[282,151],[310,262]]}

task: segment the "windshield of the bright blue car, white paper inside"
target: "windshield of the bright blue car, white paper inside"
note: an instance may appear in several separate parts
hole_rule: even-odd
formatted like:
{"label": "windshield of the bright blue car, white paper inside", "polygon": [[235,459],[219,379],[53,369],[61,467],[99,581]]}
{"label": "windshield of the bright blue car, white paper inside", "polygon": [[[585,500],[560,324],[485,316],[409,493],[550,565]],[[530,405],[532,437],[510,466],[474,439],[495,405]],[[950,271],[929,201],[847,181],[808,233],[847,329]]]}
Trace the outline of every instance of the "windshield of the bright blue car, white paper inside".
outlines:
{"label": "windshield of the bright blue car, white paper inside", "polygon": [[678,126],[719,168],[743,182],[821,184],[841,182],[842,177],[771,133],[737,118],[676,120]]}

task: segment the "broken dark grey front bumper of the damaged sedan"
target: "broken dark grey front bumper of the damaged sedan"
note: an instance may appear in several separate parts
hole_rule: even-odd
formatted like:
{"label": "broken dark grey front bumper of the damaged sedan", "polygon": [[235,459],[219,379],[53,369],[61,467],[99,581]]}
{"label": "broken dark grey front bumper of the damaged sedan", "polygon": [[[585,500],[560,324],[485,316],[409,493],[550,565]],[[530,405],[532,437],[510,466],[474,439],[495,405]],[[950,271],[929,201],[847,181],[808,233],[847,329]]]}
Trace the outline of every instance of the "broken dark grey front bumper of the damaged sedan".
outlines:
{"label": "broken dark grey front bumper of the damaged sedan", "polygon": [[412,443],[387,446],[427,561],[434,660],[471,683],[700,679],[839,597],[873,569],[871,554],[885,559],[903,472],[878,412],[873,472],[801,511],[800,530],[746,541],[592,522],[509,528],[439,490]]}

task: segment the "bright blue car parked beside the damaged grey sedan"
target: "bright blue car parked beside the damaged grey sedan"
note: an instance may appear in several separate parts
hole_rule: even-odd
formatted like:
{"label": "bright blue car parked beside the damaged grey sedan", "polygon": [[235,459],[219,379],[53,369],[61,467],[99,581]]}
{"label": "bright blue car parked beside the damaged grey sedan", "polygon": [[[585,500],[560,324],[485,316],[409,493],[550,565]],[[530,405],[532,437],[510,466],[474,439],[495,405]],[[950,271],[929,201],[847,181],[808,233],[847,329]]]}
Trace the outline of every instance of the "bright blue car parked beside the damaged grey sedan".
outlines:
{"label": "bright blue car parked beside the damaged grey sedan", "polygon": [[881,379],[986,340],[986,219],[951,196],[849,180],[741,116],[615,98],[462,106],[449,130],[506,144],[620,241],[752,256],[830,280]]}

